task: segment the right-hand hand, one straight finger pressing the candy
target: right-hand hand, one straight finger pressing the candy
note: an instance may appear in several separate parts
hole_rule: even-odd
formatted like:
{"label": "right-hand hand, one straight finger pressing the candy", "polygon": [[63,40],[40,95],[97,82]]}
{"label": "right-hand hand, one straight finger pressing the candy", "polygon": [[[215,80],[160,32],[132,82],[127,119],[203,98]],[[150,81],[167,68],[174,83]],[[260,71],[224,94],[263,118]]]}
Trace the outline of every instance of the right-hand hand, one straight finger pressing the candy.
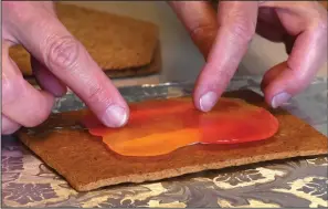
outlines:
{"label": "right-hand hand, one straight finger pressing the candy", "polygon": [[171,1],[170,6],[207,59],[194,90],[201,111],[218,102],[255,32],[284,42],[289,54],[263,77],[261,87],[272,107],[305,90],[326,62],[327,10],[316,1],[222,1],[218,15],[207,1]]}

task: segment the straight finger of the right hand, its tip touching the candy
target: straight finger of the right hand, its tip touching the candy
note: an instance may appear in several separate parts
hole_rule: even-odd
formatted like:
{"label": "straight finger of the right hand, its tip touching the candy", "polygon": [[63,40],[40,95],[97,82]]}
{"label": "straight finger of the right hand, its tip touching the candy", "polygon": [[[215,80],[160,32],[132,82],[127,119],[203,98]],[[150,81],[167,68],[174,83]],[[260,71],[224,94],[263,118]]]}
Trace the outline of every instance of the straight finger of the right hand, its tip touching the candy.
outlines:
{"label": "straight finger of the right hand, its tip touching the candy", "polygon": [[219,33],[194,91],[195,106],[210,111],[225,91],[255,33],[257,2],[222,1]]}

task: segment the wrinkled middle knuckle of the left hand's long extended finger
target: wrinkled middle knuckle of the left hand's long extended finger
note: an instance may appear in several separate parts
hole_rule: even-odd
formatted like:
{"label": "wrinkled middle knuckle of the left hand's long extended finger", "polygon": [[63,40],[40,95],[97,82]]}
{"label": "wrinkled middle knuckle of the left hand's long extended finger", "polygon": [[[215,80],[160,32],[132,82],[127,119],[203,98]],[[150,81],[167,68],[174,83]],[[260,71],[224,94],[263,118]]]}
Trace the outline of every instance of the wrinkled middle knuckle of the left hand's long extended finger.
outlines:
{"label": "wrinkled middle knuckle of the left hand's long extended finger", "polygon": [[73,70],[77,64],[80,43],[72,36],[46,40],[45,64],[50,70]]}

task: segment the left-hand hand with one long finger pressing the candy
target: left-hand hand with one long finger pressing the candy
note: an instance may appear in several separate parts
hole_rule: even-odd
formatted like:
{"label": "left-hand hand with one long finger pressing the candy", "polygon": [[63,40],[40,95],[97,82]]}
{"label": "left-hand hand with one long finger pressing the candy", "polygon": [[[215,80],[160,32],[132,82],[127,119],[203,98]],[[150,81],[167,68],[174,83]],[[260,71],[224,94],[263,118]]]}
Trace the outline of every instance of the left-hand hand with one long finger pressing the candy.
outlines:
{"label": "left-hand hand with one long finger pressing the candy", "polygon": [[[2,3],[2,132],[32,127],[47,118],[54,97],[74,91],[109,127],[127,122],[129,109],[119,92],[93,61],[84,46],[59,21],[52,2],[4,1]],[[31,53],[38,91],[9,58],[11,45],[22,44]]]}

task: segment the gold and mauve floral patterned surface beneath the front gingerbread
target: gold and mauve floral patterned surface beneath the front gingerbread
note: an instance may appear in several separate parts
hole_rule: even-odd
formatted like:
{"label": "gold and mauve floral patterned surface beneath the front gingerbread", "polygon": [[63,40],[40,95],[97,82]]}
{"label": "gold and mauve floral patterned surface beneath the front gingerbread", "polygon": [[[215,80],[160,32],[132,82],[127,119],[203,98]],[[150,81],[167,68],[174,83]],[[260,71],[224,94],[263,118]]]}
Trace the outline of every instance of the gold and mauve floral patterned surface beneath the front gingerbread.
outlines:
{"label": "gold and mauve floral patterned surface beneath the front gingerbread", "polygon": [[[258,91],[260,79],[236,77],[230,90]],[[190,94],[191,84],[124,87],[130,102]],[[317,79],[286,108],[327,135],[327,80]],[[54,112],[84,107],[68,94]],[[328,207],[328,157],[209,170],[169,180],[76,192],[14,137],[2,137],[3,207]]]}

